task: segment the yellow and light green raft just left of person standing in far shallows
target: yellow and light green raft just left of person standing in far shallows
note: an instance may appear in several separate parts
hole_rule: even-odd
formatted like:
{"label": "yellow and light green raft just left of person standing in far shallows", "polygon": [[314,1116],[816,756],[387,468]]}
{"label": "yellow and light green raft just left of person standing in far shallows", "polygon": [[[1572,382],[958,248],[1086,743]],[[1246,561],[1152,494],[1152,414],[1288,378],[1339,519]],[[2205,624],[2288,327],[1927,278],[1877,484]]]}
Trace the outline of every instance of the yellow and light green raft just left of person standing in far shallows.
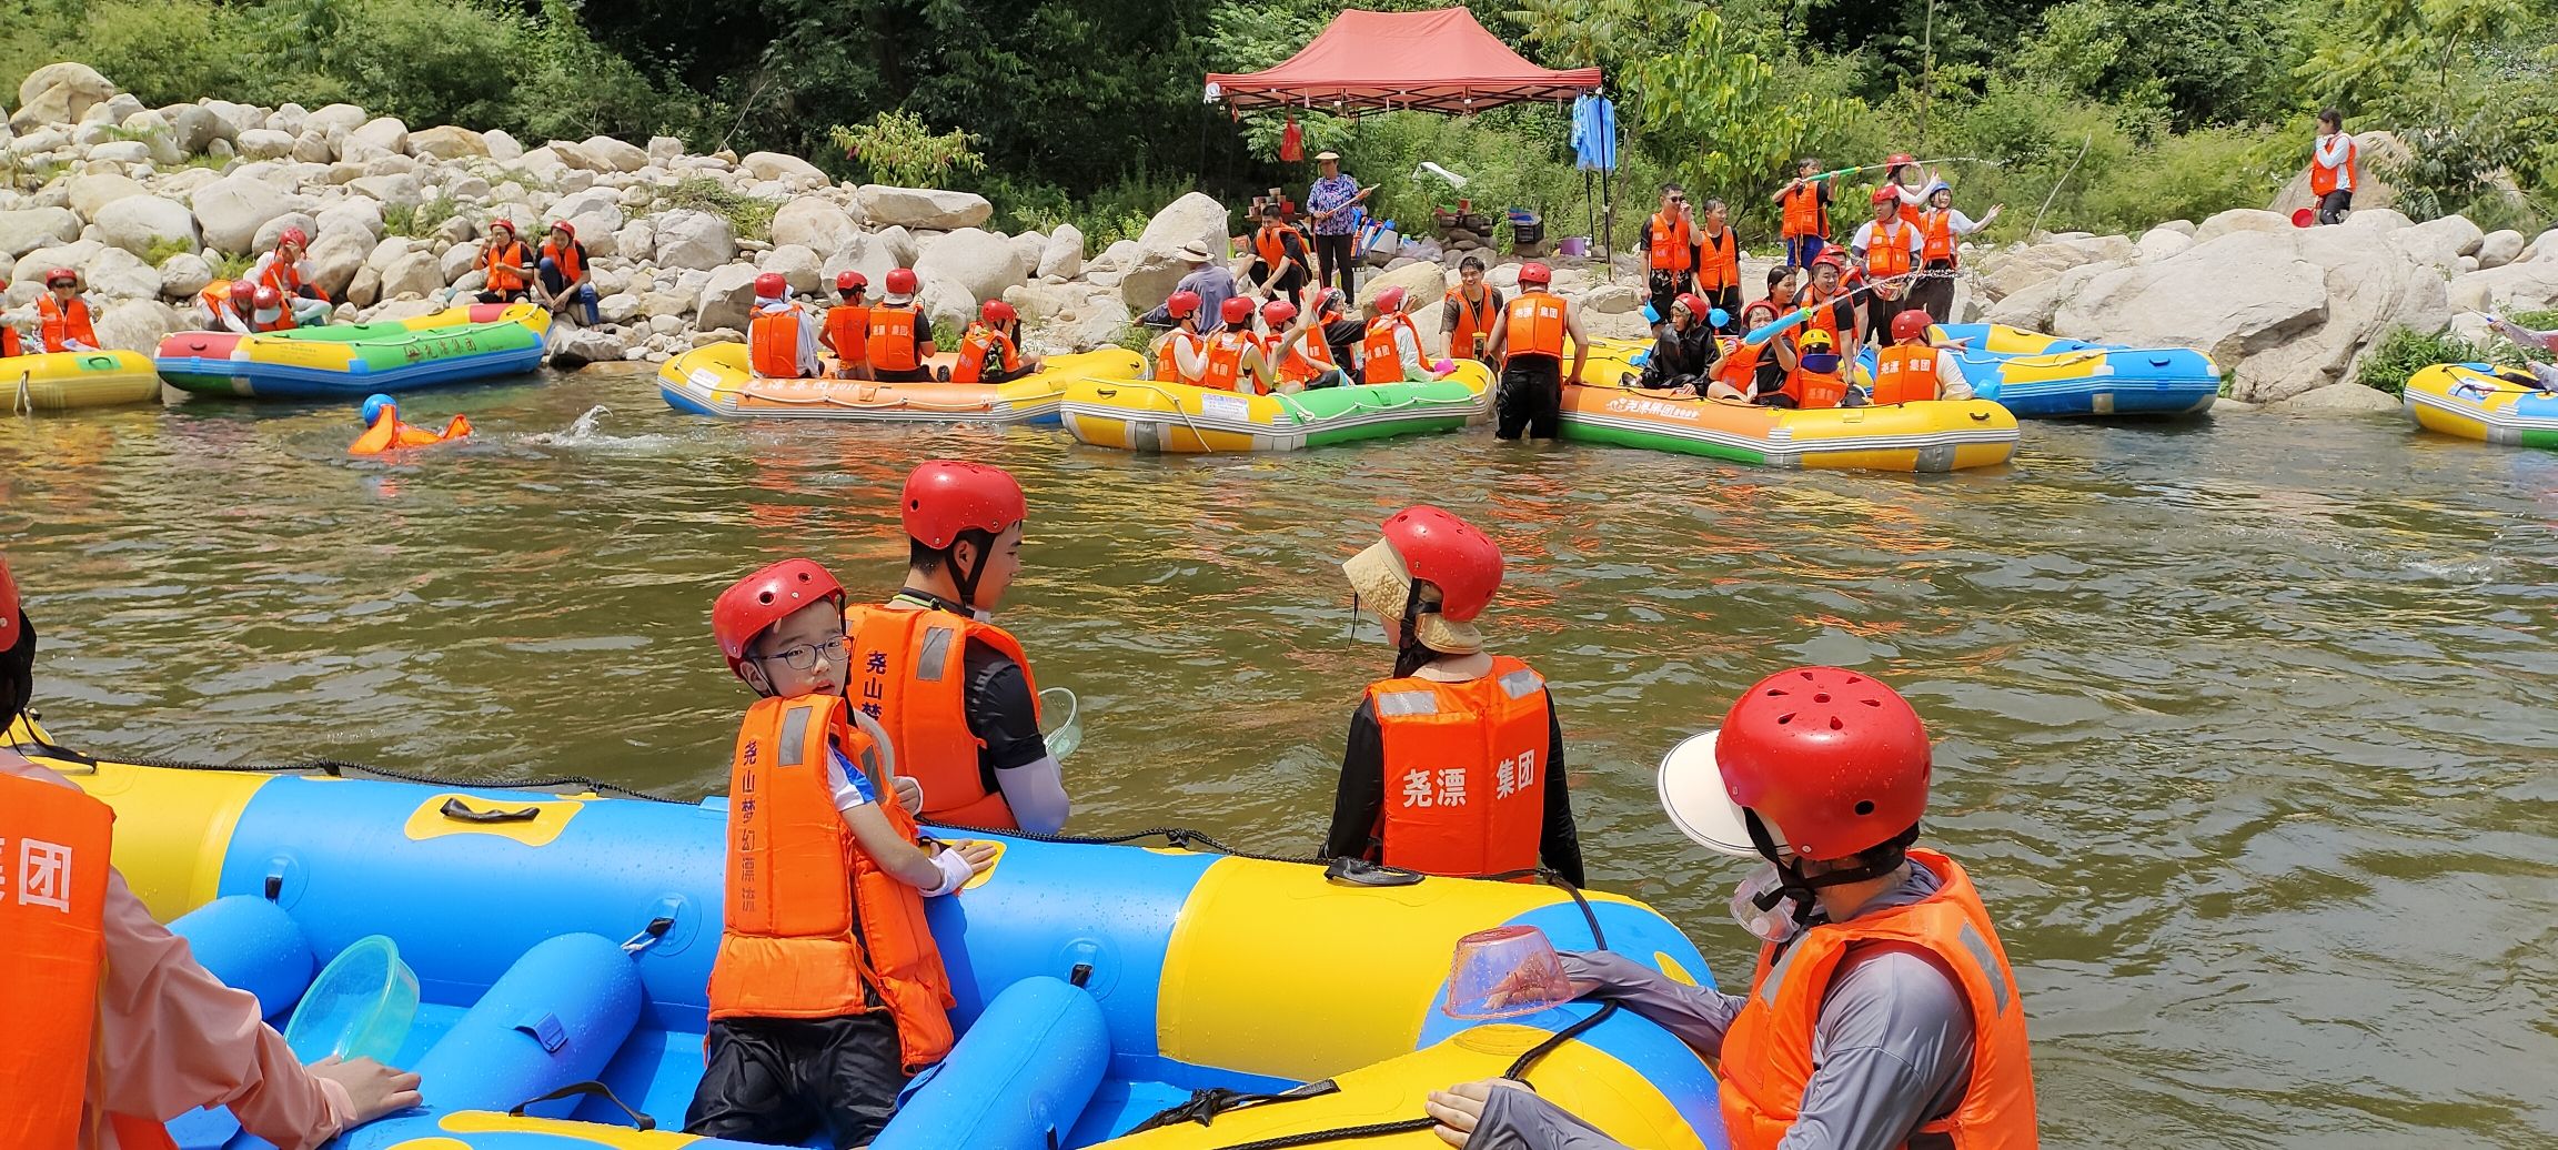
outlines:
{"label": "yellow and light green raft just left of person standing in far shallows", "polygon": [[1430,383],[1358,383],[1243,396],[1164,381],[1085,381],[1067,388],[1067,432],[1131,452],[1294,452],[1397,434],[1453,432],[1481,419],[1491,371],[1458,360]]}

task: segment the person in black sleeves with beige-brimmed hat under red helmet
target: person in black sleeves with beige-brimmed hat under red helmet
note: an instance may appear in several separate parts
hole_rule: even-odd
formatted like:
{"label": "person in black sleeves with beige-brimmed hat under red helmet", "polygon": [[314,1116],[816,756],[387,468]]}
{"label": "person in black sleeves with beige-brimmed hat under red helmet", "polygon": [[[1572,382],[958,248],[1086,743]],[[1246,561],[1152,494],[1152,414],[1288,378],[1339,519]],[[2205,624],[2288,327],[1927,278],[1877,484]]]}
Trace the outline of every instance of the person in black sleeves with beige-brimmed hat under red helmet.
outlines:
{"label": "person in black sleeves with beige-brimmed hat under red helmet", "polygon": [[1563,787],[1563,723],[1545,680],[1484,652],[1476,618],[1502,590],[1502,549],[1435,506],[1397,511],[1340,565],[1394,644],[1394,675],[1351,713],[1325,859],[1422,874],[1581,884]]}

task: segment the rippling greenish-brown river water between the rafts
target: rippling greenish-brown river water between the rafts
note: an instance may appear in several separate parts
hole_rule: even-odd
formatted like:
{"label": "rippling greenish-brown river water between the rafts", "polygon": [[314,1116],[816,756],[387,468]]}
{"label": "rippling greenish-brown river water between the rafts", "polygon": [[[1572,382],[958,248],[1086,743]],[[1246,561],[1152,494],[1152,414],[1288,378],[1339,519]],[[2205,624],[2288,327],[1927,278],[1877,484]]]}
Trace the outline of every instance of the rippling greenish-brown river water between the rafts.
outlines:
{"label": "rippling greenish-brown river water between the rafts", "polygon": [[2558,455],[2243,414],[2028,424],[1931,478],[1484,429],[1182,460],[688,419],[627,373],[412,406],[481,437],[381,465],[335,406],[0,422],[54,731],[701,795],[747,703],[711,595],[801,552],[885,595],[898,480],[967,455],[1031,491],[1003,621],[1085,700],[1074,831],[1302,854],[1389,662],[1335,562],[1438,501],[1509,555],[1489,626],[1553,682],[1591,882],[1727,984],[1737,864],[1652,764],[1765,672],[1862,667],[1939,736],[1929,838],[2000,917],[2049,1145],[2558,1145]]}

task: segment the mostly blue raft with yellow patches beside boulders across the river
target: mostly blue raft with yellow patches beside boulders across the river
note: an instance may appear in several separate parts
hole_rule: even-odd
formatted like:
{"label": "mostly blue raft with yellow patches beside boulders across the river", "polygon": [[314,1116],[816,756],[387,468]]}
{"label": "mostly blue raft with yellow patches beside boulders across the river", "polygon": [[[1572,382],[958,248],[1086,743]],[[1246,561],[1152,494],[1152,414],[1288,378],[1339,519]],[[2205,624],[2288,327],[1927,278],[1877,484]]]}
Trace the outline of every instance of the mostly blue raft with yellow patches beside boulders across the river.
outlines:
{"label": "mostly blue raft with yellow patches beside boulders across the river", "polygon": [[2008,325],[1939,325],[1931,335],[1959,342],[1954,358],[1975,396],[2023,419],[2187,417],[2220,396],[2220,368],[2190,348],[2062,340]]}

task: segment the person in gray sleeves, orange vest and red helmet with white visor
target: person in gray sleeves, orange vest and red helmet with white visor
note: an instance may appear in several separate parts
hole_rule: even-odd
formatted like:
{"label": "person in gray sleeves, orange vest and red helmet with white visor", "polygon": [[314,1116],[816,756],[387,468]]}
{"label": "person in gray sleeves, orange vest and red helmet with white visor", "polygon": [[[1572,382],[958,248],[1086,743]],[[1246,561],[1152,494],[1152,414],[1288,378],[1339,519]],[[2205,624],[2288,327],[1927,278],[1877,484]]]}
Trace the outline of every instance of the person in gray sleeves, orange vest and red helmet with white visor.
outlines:
{"label": "person in gray sleeves, orange vest and red helmet with white visor", "polygon": [[[1798,667],[1660,764],[1663,808],[1711,851],[1760,859],[1732,912],[1760,946],[1750,994],[1632,958],[1565,953],[1573,989],[1716,1058],[1732,1150],[2036,1145],[2026,1007],[1980,892],[1911,846],[1929,739],[1890,687]],[[1614,1140],[1509,1084],[1425,1104],[1450,1145],[1604,1150]]]}

